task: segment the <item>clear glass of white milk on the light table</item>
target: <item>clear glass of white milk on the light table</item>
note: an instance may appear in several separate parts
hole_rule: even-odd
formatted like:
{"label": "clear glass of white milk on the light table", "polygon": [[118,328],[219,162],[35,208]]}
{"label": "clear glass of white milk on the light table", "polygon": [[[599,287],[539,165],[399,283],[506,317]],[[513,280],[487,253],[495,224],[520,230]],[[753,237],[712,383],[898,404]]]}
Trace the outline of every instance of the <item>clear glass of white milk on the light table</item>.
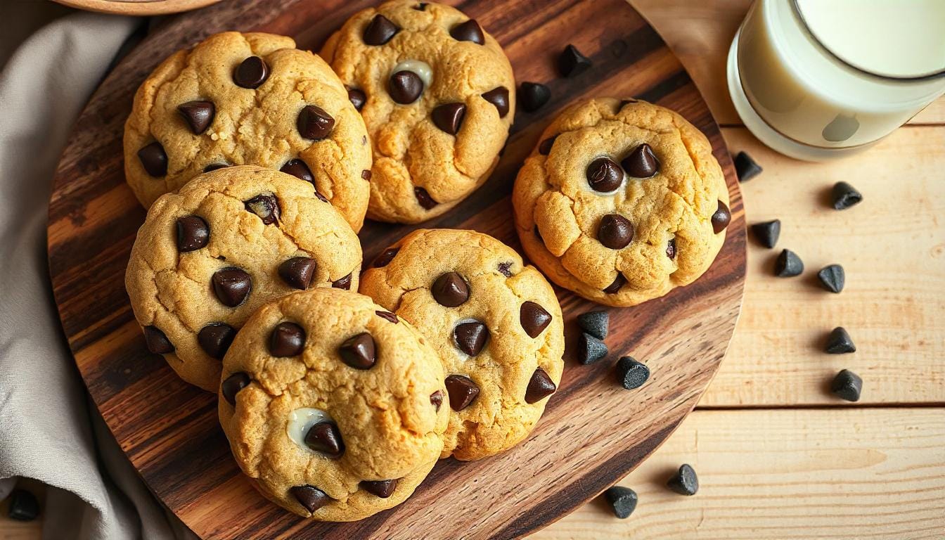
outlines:
{"label": "clear glass of white milk on the light table", "polygon": [[814,161],[867,148],[945,93],[945,0],[756,0],[728,75],[768,147]]}

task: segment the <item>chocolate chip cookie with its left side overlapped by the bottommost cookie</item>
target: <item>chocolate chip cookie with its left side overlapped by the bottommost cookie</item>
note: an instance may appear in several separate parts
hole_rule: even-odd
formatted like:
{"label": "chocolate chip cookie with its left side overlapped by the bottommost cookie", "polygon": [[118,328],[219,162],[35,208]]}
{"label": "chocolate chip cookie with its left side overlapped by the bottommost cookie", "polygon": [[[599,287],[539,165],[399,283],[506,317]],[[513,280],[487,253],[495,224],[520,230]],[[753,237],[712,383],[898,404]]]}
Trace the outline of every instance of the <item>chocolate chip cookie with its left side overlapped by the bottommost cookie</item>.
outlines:
{"label": "chocolate chip cookie with its left side overlapped by the bottommost cookie", "polygon": [[485,458],[528,435],[563,369],[561,308],[538,270],[491,236],[421,229],[381,253],[361,292],[443,361],[453,410],[443,457]]}

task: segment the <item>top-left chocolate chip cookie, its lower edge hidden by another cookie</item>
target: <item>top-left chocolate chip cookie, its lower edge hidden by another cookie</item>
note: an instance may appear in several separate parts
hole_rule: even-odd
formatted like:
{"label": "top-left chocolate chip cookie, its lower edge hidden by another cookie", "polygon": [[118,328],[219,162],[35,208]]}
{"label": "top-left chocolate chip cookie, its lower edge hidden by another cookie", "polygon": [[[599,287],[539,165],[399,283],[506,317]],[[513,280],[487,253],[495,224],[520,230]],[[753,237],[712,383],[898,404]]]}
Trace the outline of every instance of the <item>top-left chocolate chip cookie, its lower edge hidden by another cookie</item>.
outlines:
{"label": "top-left chocolate chip cookie, its lower edge hidden by another cookie", "polygon": [[370,176],[364,121],[328,64],[291,38],[215,34],[163,61],[134,96],[125,175],[145,207],[229,165],[313,183],[361,229]]}

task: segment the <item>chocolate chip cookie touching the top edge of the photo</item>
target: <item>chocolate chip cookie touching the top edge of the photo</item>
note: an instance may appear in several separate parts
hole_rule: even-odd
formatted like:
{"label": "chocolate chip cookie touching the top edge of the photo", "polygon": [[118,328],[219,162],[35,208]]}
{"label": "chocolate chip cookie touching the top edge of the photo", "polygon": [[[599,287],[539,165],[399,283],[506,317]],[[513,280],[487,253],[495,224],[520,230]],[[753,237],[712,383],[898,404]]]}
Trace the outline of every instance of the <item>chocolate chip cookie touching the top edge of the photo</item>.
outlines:
{"label": "chocolate chip cookie touching the top edge of the photo", "polygon": [[515,80],[475,20],[440,4],[387,2],[352,16],[321,56],[373,142],[369,218],[435,218],[489,178],[515,115]]}

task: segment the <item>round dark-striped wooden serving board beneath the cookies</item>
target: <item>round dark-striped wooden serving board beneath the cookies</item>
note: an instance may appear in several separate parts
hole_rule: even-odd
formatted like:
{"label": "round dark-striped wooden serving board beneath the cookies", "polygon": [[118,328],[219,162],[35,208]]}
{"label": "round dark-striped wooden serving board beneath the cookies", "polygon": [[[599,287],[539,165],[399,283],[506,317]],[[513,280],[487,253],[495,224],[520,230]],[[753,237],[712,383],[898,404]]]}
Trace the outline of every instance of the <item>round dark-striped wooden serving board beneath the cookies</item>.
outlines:
{"label": "round dark-striped wooden serving board beneath the cookies", "polygon": [[[239,473],[217,425],[216,397],[177,378],[147,353],[124,288],[145,211],[123,178],[122,129],[131,97],[169,53],[225,29],[294,36],[318,50],[367,1],[237,0],[181,15],[112,71],[79,117],[61,158],[49,208],[49,266],[62,326],[98,409],[151,490],[205,538],[512,538],[539,529],[599,494],[641,462],[696,405],[728,347],[745,280],[745,213],[731,159],[696,86],[660,36],[624,0],[469,0],[458,5],[499,40],[516,79],[542,81],[552,100],[519,111],[490,181],[424,227],[469,228],[520,248],[509,194],[544,126],[588,96],[638,96],[679,111],[712,141],[730,189],[722,253],[695,284],[662,299],[610,309],[611,356],[574,359],[574,322],[595,305],[558,288],[569,337],[566,368],[532,435],[479,462],[439,462],[404,504],[347,524],[315,523],[267,502]],[[593,67],[558,78],[555,59],[576,44]],[[365,260],[417,227],[369,223]],[[652,373],[640,390],[615,381],[613,360],[632,355]]]}

